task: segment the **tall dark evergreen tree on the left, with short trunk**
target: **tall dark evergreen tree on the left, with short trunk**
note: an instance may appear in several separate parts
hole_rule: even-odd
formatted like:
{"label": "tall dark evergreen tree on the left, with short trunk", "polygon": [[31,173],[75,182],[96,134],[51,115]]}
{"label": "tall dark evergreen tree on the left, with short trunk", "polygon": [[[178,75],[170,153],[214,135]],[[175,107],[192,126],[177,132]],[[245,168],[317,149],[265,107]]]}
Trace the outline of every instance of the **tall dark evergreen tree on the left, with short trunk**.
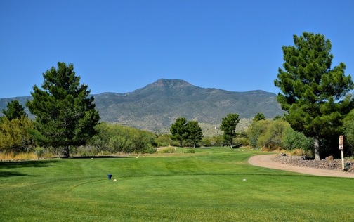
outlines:
{"label": "tall dark evergreen tree on the left, with short trunk", "polygon": [[43,74],[42,89],[34,86],[33,100],[27,107],[36,116],[39,143],[63,148],[63,155],[70,157],[70,147],[84,145],[96,130],[100,116],[95,109],[93,96],[80,77],[75,75],[74,65],[58,63]]}

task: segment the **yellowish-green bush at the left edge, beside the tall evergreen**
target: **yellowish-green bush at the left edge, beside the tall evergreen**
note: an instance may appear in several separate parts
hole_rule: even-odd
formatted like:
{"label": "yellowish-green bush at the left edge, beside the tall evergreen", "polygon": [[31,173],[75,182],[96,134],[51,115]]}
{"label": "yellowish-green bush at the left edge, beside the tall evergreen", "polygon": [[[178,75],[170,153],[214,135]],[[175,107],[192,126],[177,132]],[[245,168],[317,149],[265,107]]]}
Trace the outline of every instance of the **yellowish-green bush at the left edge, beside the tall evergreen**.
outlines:
{"label": "yellowish-green bush at the left edge, beside the tall evergreen", "polygon": [[0,151],[27,152],[34,147],[34,142],[29,133],[34,129],[31,119],[25,116],[9,120],[7,117],[0,121]]}

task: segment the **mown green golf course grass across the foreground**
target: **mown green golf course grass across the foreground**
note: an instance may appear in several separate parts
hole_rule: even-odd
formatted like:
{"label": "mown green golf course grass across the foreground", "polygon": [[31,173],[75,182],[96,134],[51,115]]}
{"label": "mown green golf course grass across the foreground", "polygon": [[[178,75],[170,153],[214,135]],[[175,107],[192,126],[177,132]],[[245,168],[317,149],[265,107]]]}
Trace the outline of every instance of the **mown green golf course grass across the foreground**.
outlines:
{"label": "mown green golf course grass across the foreground", "polygon": [[250,150],[180,152],[1,162],[0,221],[354,220],[354,179],[250,166]]}

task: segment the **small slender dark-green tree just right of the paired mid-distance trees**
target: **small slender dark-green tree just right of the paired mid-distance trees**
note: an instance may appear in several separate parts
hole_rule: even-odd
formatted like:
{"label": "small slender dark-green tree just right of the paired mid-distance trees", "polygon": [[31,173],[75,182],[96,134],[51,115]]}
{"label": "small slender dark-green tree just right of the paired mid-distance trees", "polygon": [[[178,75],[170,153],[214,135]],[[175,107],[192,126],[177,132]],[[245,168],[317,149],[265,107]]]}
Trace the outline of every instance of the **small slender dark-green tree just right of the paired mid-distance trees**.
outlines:
{"label": "small slender dark-green tree just right of the paired mid-distance trees", "polygon": [[220,130],[223,131],[224,141],[229,143],[231,147],[233,138],[237,136],[235,129],[239,122],[239,115],[235,113],[228,114],[226,117],[223,117],[221,121]]}

